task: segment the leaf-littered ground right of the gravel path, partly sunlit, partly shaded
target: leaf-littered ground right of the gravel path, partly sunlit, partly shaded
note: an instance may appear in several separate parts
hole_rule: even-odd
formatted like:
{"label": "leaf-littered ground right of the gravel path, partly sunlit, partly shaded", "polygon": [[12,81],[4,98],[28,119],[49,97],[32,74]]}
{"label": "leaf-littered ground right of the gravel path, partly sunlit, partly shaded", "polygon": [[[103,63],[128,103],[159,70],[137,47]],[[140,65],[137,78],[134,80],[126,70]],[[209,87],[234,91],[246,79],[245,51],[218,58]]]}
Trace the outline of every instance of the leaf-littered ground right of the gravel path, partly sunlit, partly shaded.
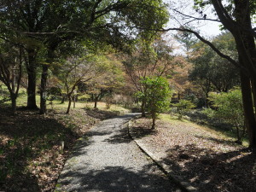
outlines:
{"label": "leaf-littered ground right of the gravel path, partly sunlit, partly shaded", "polygon": [[198,191],[256,191],[256,154],[234,138],[168,114],[150,124],[134,120],[132,136]]}

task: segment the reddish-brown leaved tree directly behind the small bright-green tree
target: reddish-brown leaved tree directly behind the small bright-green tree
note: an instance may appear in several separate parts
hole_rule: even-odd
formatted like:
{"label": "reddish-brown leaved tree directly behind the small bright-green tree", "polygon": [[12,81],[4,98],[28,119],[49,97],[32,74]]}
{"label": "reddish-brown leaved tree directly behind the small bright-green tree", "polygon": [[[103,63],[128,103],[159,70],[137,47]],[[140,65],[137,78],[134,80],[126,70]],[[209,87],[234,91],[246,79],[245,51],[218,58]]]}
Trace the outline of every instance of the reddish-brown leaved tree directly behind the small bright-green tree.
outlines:
{"label": "reddish-brown leaved tree directly behind the small bright-green tree", "polygon": [[[123,61],[125,73],[135,90],[145,92],[141,79],[147,76],[168,77],[173,69],[172,46],[161,36],[156,39],[140,39],[137,49]],[[145,116],[146,101],[142,98],[142,115]]]}

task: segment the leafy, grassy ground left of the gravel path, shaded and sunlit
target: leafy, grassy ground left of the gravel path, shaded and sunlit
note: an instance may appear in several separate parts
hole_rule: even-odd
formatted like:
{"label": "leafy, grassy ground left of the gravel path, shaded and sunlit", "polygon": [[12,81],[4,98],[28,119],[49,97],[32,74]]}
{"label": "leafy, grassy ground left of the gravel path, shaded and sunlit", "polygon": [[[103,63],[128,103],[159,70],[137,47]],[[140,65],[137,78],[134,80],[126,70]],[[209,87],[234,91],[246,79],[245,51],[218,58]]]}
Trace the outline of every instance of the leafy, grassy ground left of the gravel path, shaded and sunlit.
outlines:
{"label": "leafy, grassy ground left of the gravel path, shaded and sunlit", "polygon": [[46,115],[19,108],[15,116],[9,107],[0,109],[0,191],[6,192],[52,191],[77,139],[102,119],[119,114],[119,107],[86,106],[70,114],[58,108]]}

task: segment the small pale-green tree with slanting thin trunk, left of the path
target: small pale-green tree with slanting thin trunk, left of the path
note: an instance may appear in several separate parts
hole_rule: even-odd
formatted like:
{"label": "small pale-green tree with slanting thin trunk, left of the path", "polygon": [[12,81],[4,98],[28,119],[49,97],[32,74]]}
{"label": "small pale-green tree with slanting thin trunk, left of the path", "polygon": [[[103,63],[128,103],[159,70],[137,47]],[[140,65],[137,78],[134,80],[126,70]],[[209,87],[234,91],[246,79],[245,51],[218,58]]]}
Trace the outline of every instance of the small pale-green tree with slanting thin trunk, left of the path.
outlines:
{"label": "small pale-green tree with slanting thin trunk, left of the path", "polygon": [[109,61],[106,55],[86,53],[86,47],[80,49],[84,50],[81,55],[68,56],[65,64],[55,73],[68,99],[67,113],[70,111],[74,91],[79,90],[79,84],[90,84],[90,81],[96,81],[108,72]]}

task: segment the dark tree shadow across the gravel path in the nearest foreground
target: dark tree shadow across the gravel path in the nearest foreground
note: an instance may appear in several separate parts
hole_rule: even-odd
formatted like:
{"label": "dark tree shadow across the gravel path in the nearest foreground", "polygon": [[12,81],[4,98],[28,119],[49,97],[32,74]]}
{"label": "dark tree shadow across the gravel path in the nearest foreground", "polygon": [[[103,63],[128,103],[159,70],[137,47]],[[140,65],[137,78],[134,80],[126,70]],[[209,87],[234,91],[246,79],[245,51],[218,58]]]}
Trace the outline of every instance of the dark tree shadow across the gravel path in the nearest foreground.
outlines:
{"label": "dark tree shadow across the gravel path in the nearest foreground", "polygon": [[[145,170],[134,171],[120,166],[108,166],[104,170],[83,173],[83,170],[61,175],[55,191],[104,191],[104,192],[156,192],[176,191],[177,187],[163,182],[166,178]],[[75,183],[75,184],[74,184]]]}

